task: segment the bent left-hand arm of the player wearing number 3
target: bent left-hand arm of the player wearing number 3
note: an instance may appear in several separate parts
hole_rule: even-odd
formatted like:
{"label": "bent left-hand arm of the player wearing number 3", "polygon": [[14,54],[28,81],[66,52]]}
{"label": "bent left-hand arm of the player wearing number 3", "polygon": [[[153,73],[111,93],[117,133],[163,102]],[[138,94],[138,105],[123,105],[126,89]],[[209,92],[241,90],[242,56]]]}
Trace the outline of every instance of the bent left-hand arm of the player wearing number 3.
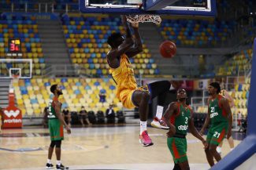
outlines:
{"label": "bent left-hand arm of the player wearing number 3", "polygon": [[178,111],[178,107],[175,102],[170,103],[167,110],[165,110],[164,119],[166,125],[169,126],[169,132],[166,133],[166,136],[172,137],[176,133],[176,128],[171,122],[169,121],[173,114],[176,114]]}

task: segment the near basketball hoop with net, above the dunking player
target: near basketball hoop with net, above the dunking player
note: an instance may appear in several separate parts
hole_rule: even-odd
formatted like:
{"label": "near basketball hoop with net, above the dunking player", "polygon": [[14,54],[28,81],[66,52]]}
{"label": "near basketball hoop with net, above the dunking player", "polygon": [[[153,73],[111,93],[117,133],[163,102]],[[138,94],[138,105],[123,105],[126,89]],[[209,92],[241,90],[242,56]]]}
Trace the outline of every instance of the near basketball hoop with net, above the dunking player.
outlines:
{"label": "near basketball hoop with net, above the dunking player", "polygon": [[138,23],[154,23],[154,24],[161,24],[161,17],[158,15],[149,15],[149,14],[143,14],[143,15],[127,15],[126,16],[127,21],[132,24],[138,24]]}

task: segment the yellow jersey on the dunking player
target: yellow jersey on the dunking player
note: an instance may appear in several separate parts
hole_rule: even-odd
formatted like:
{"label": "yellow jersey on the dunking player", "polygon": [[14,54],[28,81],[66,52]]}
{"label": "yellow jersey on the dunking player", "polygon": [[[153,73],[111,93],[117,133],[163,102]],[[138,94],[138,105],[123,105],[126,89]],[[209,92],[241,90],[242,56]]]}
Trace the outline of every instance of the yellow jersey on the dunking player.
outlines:
{"label": "yellow jersey on the dunking player", "polygon": [[124,89],[137,89],[132,63],[125,54],[121,55],[120,66],[110,68],[113,80],[117,83],[117,98],[120,99],[120,92]]}

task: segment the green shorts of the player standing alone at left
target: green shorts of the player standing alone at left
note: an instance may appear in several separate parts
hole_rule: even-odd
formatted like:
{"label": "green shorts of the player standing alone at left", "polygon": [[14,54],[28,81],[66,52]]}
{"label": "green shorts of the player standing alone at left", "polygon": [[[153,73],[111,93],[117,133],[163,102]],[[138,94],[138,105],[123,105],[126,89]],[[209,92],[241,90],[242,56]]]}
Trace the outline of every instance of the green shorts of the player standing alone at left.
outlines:
{"label": "green shorts of the player standing alone at left", "polygon": [[58,119],[49,119],[50,140],[63,140],[63,125]]}

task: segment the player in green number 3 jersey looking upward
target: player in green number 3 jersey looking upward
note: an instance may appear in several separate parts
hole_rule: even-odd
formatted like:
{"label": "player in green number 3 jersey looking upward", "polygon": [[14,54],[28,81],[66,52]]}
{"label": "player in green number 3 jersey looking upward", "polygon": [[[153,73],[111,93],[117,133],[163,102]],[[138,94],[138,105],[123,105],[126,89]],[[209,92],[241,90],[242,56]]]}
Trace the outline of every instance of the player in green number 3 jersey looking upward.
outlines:
{"label": "player in green number 3 jersey looking upward", "polygon": [[167,110],[165,110],[164,119],[169,126],[169,132],[166,133],[167,145],[171,154],[173,155],[173,161],[175,166],[173,170],[188,170],[189,165],[187,161],[187,128],[193,136],[202,141],[202,144],[206,147],[206,140],[200,136],[194,126],[193,112],[191,107],[187,106],[187,92],[184,89],[177,91],[177,102],[169,104]]}

